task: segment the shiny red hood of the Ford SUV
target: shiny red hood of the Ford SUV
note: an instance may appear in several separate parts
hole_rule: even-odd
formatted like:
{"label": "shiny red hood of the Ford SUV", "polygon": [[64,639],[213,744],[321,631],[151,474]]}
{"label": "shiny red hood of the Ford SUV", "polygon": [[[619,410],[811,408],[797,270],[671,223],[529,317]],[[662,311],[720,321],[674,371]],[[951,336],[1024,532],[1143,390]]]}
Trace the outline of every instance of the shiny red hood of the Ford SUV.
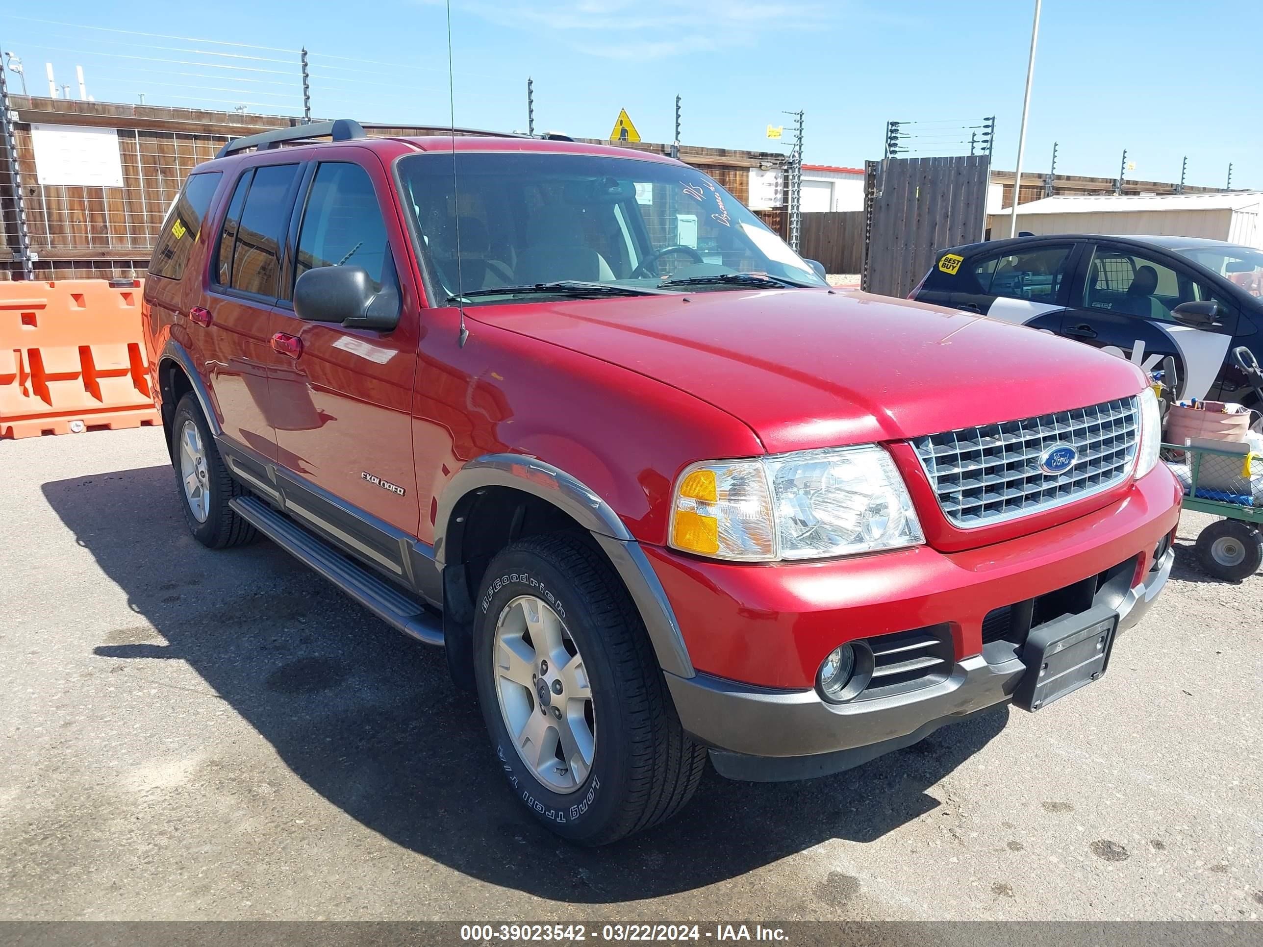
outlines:
{"label": "shiny red hood of the Ford SUV", "polygon": [[975,314],[866,293],[722,290],[467,316],[688,391],[769,452],[897,441],[1134,395],[1134,366]]}

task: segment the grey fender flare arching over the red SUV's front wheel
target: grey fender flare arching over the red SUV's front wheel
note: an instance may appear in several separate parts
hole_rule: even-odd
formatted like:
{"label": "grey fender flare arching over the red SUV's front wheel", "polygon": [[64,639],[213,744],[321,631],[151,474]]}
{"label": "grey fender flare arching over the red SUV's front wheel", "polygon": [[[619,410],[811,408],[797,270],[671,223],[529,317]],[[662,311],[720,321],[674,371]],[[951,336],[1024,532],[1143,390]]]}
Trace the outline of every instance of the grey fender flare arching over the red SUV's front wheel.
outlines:
{"label": "grey fender flare arching over the red SUV's front wheel", "polygon": [[[457,506],[470,494],[491,486],[537,496],[591,533],[632,595],[649,633],[659,667],[677,677],[696,676],[674,610],[640,543],[596,491],[577,477],[536,457],[518,453],[484,455],[456,472],[438,497],[434,515],[434,563],[440,569],[445,568],[448,552],[460,556],[460,549],[452,549],[448,540]],[[446,588],[447,582],[443,585]]]}

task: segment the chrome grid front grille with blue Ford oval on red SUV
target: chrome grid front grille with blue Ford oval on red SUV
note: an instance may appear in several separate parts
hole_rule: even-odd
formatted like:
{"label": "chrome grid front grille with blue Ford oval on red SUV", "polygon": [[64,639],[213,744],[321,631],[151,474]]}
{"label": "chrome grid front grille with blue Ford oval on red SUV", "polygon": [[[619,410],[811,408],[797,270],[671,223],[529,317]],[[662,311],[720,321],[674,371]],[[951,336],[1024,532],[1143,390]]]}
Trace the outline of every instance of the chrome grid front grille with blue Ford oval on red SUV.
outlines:
{"label": "chrome grid front grille with blue Ford oval on red SUV", "polygon": [[[947,431],[912,442],[943,515],[956,527],[985,527],[1052,509],[1123,482],[1139,432],[1135,398],[1038,418]],[[1061,474],[1039,458],[1057,444],[1077,451]]]}

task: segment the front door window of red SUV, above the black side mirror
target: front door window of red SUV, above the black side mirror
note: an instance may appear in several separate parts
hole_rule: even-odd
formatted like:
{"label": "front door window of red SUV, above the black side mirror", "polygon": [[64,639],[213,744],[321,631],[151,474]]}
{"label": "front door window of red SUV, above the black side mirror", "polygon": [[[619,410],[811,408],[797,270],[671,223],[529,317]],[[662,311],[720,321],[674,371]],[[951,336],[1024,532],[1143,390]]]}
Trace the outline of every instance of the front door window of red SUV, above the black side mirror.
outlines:
{"label": "front door window of red SUV, above the black side mirror", "polygon": [[[462,235],[464,236],[464,235]],[[331,162],[316,169],[298,234],[294,279],[318,266],[362,266],[380,289],[390,242],[368,172]]]}

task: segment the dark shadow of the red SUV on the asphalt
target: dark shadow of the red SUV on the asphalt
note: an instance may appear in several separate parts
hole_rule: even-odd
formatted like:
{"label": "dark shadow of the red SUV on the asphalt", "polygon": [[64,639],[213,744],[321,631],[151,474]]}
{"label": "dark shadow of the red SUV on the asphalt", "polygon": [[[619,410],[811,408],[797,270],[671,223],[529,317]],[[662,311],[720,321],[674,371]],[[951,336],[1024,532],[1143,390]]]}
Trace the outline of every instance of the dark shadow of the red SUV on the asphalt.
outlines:
{"label": "dark shadow of the red SUV on the asphalt", "polygon": [[360,823],[543,898],[652,898],[739,876],[830,838],[880,838],[936,809],[926,790],[1008,720],[1000,707],[807,783],[730,783],[709,771],[672,823],[606,849],[572,849],[554,870],[539,871],[542,851],[568,846],[512,797],[476,702],[452,687],[440,649],[397,634],[270,543],[222,552],[198,545],[165,466],[49,482],[43,491],[147,622],[102,626],[96,655],[129,667],[187,662],[296,775]]}

